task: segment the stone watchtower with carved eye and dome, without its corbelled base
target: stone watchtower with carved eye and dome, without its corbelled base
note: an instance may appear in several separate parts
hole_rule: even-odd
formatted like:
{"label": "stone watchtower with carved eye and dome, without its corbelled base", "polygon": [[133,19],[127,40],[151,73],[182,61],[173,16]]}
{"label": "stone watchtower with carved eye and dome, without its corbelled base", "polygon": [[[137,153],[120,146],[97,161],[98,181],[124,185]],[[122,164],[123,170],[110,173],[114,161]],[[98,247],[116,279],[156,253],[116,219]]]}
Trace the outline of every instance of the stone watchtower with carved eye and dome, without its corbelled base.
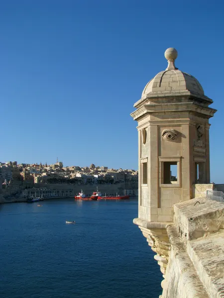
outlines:
{"label": "stone watchtower with carved eye and dome, without its corbelled base", "polygon": [[[210,182],[209,107],[199,81],[175,66],[177,51],[165,51],[167,68],[156,74],[134,104],[138,122],[138,220],[173,222],[173,205],[193,197],[195,183]],[[174,169],[174,171],[173,171]],[[171,173],[172,171],[172,173]]]}

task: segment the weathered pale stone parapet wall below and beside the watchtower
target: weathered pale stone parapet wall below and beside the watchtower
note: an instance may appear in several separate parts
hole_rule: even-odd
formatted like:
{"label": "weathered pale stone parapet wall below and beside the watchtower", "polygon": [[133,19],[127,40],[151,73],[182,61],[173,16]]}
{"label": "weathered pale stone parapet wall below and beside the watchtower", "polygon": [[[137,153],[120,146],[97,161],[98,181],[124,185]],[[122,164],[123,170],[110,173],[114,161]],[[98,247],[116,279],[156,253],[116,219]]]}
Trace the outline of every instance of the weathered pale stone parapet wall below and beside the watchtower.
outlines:
{"label": "weathered pale stone parapet wall below and beside the watchtower", "polygon": [[174,206],[161,298],[224,297],[224,203],[196,198]]}

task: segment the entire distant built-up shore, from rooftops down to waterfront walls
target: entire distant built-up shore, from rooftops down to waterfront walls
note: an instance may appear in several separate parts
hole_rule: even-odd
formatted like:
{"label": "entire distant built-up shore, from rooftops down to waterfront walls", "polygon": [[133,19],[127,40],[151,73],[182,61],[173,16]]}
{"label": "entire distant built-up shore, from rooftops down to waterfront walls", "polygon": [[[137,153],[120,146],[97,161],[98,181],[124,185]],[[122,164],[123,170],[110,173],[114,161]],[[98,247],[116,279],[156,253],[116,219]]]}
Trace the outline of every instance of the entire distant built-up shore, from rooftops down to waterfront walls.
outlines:
{"label": "entire distant built-up shore, from rooftops down to waterfront walls", "polygon": [[138,172],[131,169],[109,169],[54,164],[0,162],[0,202],[26,202],[29,198],[69,198],[81,190],[92,195],[97,187],[104,195],[138,195]]}

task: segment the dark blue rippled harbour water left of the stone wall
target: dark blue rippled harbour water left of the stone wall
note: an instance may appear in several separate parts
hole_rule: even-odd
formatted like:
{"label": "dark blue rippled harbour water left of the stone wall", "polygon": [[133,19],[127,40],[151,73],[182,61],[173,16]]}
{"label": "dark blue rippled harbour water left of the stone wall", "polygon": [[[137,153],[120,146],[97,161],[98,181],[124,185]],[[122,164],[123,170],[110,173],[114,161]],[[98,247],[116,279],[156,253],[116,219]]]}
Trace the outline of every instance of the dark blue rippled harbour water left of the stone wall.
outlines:
{"label": "dark blue rippled harbour water left of the stone wall", "polygon": [[0,298],[159,297],[137,199],[37,204],[0,205]]}

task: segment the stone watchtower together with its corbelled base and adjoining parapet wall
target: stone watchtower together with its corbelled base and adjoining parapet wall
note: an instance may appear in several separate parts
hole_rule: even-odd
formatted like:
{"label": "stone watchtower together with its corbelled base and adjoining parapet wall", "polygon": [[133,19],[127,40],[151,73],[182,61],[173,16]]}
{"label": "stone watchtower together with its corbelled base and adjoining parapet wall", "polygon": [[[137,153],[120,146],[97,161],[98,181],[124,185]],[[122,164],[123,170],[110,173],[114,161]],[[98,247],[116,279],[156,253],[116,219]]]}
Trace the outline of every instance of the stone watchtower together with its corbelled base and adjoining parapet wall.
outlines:
{"label": "stone watchtower together with its corbelled base and adjoining parapet wall", "polygon": [[224,297],[224,203],[203,198],[214,189],[209,119],[216,110],[199,81],[176,68],[177,51],[167,49],[165,58],[166,70],[147,83],[131,114],[139,167],[133,222],[156,253],[161,298]]}

